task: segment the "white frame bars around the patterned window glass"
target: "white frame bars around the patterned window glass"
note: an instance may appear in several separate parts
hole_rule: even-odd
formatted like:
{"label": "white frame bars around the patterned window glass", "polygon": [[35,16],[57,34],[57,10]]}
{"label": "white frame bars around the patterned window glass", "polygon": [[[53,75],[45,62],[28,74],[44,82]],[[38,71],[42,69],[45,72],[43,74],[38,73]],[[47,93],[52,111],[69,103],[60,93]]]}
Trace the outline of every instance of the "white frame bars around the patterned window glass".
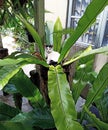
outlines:
{"label": "white frame bars around the patterned window glass", "polygon": [[[72,15],[74,2],[75,2],[75,0],[68,0],[66,28],[72,27],[71,26],[72,18],[78,18],[78,19],[81,18],[80,16]],[[106,24],[108,23],[108,6],[105,7],[105,9],[102,11],[102,13],[97,17],[96,21],[98,21],[98,28],[97,28],[94,43],[90,44],[87,42],[77,41],[76,44],[79,44],[82,46],[92,45],[94,48],[99,48],[102,46],[103,38],[104,38],[104,34],[105,34],[105,27],[106,27]]]}

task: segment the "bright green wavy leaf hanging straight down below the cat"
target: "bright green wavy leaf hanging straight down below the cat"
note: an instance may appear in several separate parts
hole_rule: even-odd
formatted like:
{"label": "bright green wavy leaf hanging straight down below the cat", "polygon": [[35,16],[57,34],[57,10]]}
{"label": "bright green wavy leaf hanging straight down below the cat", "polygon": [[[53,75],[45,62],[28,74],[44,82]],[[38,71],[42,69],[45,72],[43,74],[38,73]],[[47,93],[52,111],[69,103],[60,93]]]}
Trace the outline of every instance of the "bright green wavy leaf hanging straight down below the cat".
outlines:
{"label": "bright green wavy leaf hanging straight down below the cat", "polygon": [[59,65],[49,68],[48,93],[51,101],[51,113],[57,130],[83,130],[76,121],[77,113],[69,83]]}

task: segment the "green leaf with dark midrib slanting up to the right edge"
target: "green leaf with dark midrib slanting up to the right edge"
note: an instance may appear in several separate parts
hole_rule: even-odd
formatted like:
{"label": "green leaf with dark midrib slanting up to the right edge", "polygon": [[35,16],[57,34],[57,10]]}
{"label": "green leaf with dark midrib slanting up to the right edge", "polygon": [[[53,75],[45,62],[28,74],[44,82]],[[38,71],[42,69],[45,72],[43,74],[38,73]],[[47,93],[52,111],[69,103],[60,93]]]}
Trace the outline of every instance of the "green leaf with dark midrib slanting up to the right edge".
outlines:
{"label": "green leaf with dark midrib slanting up to the right edge", "polygon": [[85,105],[89,107],[94,101],[99,99],[102,96],[107,85],[108,85],[108,63],[104,65],[104,67],[99,72],[96,80],[94,81],[94,84],[88,93]]}

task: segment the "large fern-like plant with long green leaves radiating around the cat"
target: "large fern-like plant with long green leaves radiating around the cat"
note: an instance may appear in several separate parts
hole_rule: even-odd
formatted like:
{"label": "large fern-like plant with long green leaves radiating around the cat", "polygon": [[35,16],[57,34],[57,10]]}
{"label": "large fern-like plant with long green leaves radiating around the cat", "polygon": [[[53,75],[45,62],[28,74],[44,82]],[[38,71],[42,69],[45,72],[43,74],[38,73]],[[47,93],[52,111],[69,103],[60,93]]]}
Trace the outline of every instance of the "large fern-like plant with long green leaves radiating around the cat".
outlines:
{"label": "large fern-like plant with long green leaves radiating around the cat", "polygon": [[[92,49],[91,46],[89,46],[84,51],[77,52],[72,55],[71,58],[67,58],[70,48],[88,27],[95,22],[98,14],[100,14],[107,5],[108,0],[92,0],[84,15],[79,20],[75,30],[64,30],[62,29],[60,20],[58,19],[56,21],[53,31],[53,47],[54,51],[58,52],[60,56],[54,65],[49,65],[46,61],[44,43],[42,43],[39,34],[22,15],[17,15],[19,20],[33,36],[39,52],[38,54],[36,52],[35,55],[14,52],[5,59],[0,60],[0,89],[2,90],[8,84],[7,92],[11,94],[20,93],[26,97],[32,104],[33,110],[24,113],[18,108],[0,102],[0,130],[108,129],[108,120],[106,117],[108,115],[108,64],[105,64],[100,73],[92,79],[86,72],[86,76],[88,77],[86,77],[85,82],[89,80],[91,88],[80,113],[76,111],[75,104],[86,83],[81,84],[81,80],[79,80],[77,84],[73,83],[73,85],[70,86],[65,73],[65,67],[75,61],[80,60],[83,62],[85,59],[84,63],[88,63],[91,61],[89,59],[90,56],[93,57],[98,53],[107,54],[108,47]],[[62,35],[66,33],[69,33],[70,36],[63,41]],[[37,68],[40,69],[40,86],[36,87],[24,74],[22,67],[27,64],[36,64]],[[88,64],[86,65],[88,67]],[[43,77],[43,71],[41,70],[45,70],[46,77]],[[79,70],[81,69],[76,69],[76,73],[78,73]],[[80,75],[78,75],[77,78],[81,79]],[[94,102],[100,113],[100,119],[89,110]],[[84,121],[86,123],[84,123]]]}

